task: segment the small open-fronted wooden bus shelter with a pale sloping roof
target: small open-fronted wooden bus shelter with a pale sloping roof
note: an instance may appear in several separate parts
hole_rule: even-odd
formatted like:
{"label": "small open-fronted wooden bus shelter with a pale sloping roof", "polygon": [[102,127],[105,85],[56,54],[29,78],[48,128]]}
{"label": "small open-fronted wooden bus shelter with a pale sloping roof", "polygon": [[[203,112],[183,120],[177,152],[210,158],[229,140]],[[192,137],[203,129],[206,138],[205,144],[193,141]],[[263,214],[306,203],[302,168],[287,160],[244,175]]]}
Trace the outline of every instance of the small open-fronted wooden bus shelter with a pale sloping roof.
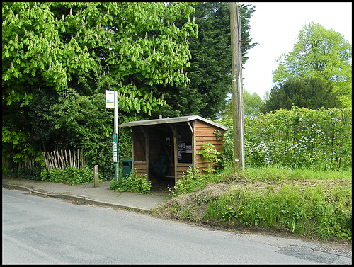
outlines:
{"label": "small open-fronted wooden bus shelter with a pale sloping roof", "polygon": [[[198,115],[139,120],[122,123],[130,127],[132,137],[132,170],[147,174],[147,181],[175,185],[183,172],[198,166],[201,174],[210,166],[198,154],[202,145],[210,142],[219,152],[224,143],[222,136],[227,127]],[[212,166],[214,167],[214,166]]]}

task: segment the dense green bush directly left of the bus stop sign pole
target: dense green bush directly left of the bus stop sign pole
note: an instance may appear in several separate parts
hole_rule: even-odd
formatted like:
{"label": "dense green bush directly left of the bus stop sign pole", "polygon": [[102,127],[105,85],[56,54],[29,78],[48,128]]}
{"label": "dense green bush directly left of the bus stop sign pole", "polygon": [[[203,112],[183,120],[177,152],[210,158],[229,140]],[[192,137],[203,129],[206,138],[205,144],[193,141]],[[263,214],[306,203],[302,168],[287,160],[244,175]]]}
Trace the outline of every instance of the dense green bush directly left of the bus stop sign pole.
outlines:
{"label": "dense green bush directly left of the bus stop sign pole", "polygon": [[112,134],[113,112],[105,109],[105,94],[80,96],[72,89],[60,93],[59,100],[45,115],[55,129],[66,135],[66,143],[82,149],[89,158],[89,166],[98,165],[101,174],[109,178],[113,174]]}

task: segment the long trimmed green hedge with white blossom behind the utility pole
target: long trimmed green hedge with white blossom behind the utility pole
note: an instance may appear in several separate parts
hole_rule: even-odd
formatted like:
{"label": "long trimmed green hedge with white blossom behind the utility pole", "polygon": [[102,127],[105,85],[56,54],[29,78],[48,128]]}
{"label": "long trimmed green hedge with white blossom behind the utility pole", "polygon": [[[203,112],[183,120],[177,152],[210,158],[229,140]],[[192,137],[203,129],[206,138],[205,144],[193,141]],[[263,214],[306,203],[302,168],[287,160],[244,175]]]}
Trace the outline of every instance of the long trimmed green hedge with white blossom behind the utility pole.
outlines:
{"label": "long trimmed green hedge with white blossom behind the utility pole", "polygon": [[[245,164],[251,167],[297,166],[315,170],[352,166],[352,113],[348,108],[309,110],[294,107],[244,118]],[[224,134],[222,162],[231,164],[232,119]]]}

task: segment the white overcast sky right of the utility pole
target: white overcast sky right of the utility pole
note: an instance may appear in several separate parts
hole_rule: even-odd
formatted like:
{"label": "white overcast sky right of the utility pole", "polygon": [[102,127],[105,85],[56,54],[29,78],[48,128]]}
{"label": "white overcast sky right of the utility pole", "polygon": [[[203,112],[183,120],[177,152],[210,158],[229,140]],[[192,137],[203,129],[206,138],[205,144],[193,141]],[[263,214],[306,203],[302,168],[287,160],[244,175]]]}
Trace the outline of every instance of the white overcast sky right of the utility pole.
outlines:
{"label": "white overcast sky right of the utility pole", "polygon": [[273,70],[282,53],[292,51],[299,31],[311,21],[341,33],[352,42],[351,2],[240,2],[253,4],[256,11],[250,19],[252,42],[256,47],[248,51],[249,57],[242,76],[244,90],[257,93],[262,99],[273,87]]}

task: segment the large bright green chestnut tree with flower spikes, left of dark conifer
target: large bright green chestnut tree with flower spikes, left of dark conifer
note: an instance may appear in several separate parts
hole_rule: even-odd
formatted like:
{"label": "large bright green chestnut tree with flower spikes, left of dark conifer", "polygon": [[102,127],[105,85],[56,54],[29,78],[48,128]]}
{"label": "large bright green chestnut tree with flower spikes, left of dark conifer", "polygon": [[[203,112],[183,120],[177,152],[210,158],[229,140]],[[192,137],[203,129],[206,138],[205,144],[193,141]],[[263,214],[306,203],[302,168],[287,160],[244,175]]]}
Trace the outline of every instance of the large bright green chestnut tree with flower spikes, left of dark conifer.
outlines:
{"label": "large bright green chestnut tree with flower spikes, left of dark conifer", "polygon": [[[85,110],[106,89],[118,91],[123,117],[149,115],[164,105],[159,86],[189,81],[181,69],[189,64],[188,38],[198,35],[189,18],[193,11],[190,3],[3,3],[3,151],[21,160],[40,154],[35,149],[42,137],[57,146],[84,142],[86,137],[74,135],[79,126],[39,130],[45,120],[69,118],[64,110],[57,112],[60,119],[47,116],[60,92],[92,96],[86,99],[91,105],[80,106]],[[31,124],[30,118],[38,120]],[[86,129],[87,136],[101,134],[99,123]],[[57,130],[67,132],[67,139],[57,139]]]}

